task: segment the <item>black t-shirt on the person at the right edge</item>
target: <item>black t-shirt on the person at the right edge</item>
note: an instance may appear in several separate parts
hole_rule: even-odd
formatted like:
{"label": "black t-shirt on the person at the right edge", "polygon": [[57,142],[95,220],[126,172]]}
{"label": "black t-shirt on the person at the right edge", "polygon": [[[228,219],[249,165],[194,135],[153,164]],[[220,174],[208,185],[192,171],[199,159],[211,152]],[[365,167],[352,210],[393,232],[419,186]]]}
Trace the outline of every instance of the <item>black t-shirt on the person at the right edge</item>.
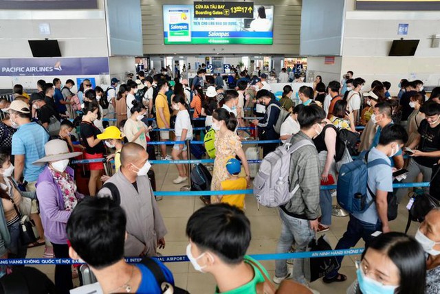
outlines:
{"label": "black t-shirt on the person at the right edge", "polygon": [[[431,128],[427,120],[422,120],[417,130],[421,136],[419,148],[423,152],[432,152],[440,150],[440,124]],[[434,163],[439,161],[440,157],[413,157],[421,166],[432,168]]]}

